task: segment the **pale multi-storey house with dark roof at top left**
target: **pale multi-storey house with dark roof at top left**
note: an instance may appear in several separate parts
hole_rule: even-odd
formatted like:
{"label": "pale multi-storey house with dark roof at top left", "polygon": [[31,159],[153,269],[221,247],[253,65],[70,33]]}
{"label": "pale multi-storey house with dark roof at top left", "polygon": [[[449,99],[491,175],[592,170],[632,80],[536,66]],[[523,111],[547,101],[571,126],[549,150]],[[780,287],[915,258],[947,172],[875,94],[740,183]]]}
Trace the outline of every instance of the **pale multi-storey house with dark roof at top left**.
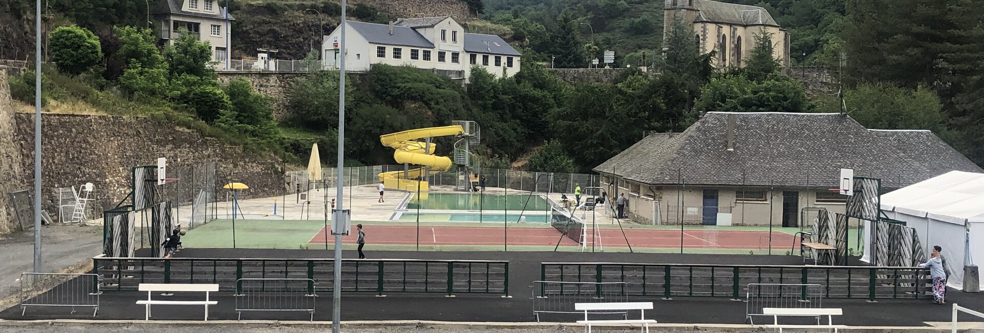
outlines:
{"label": "pale multi-storey house with dark roof at top left", "polygon": [[[158,40],[172,45],[181,33],[191,33],[212,47],[212,60],[224,67],[231,49],[231,21],[225,7],[217,0],[160,0],[154,8],[154,20],[160,27]],[[227,19],[227,20],[226,20]]]}

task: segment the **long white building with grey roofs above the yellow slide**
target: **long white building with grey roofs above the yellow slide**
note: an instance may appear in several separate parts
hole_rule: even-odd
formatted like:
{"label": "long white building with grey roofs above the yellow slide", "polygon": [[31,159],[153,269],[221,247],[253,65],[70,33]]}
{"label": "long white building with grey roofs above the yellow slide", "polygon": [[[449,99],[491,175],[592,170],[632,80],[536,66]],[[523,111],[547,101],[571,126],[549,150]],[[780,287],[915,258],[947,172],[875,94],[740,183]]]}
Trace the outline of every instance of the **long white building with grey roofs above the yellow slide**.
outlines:
{"label": "long white building with grey roofs above the yellow slide", "polygon": [[[369,71],[374,64],[434,70],[467,79],[471,66],[497,77],[520,72],[521,54],[494,34],[468,33],[451,17],[400,19],[390,25],[345,22],[346,71]],[[325,36],[325,69],[338,69],[340,27]]]}

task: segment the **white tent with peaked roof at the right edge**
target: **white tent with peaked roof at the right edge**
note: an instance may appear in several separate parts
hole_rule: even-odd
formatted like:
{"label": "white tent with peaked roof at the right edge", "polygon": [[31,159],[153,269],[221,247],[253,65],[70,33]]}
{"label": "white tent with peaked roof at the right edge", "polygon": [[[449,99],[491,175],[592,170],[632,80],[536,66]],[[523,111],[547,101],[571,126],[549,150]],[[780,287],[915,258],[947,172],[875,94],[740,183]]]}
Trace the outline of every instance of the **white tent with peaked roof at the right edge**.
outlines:
{"label": "white tent with peaked roof at the right edge", "polygon": [[[916,230],[927,257],[933,246],[943,248],[953,288],[963,286],[964,265],[984,259],[984,174],[951,171],[883,194],[882,211]],[[869,229],[866,244],[871,244]]]}

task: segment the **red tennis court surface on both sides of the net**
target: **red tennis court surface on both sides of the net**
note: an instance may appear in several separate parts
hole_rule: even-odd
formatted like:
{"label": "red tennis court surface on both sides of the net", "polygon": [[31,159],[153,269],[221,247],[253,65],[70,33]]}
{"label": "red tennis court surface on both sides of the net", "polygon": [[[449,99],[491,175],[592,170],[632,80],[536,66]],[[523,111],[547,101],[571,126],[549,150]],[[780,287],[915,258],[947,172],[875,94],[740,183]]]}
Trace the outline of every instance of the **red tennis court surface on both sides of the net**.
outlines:
{"label": "red tennis court surface on both sides of the net", "polygon": [[[354,227],[353,227],[354,229]],[[441,246],[501,246],[507,239],[511,246],[576,246],[577,244],[553,228],[503,228],[494,227],[420,227],[420,245]],[[599,229],[601,244],[606,247],[625,247],[626,238],[633,247],[640,248],[680,248],[680,231],[666,229]],[[417,244],[417,228],[414,226],[366,226],[364,228],[367,244],[414,245]],[[781,232],[772,232],[773,249],[791,248],[794,237]],[[326,233],[322,229],[309,243],[325,244]],[[354,244],[355,233],[342,238],[342,243]],[[328,234],[328,243],[334,236]],[[588,238],[590,244],[590,238]],[[768,231],[739,230],[685,230],[683,248],[689,249],[769,249]]]}

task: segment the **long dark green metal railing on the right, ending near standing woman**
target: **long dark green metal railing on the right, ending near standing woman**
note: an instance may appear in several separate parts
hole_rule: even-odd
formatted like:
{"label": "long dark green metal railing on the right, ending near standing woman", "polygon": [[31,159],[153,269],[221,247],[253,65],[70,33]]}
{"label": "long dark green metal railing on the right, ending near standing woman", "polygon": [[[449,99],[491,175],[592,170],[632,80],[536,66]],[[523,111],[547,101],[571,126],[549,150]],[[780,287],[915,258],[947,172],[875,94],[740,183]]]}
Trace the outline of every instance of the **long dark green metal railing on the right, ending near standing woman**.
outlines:
{"label": "long dark green metal railing on the right, ending near standing woman", "polygon": [[540,280],[626,282],[631,296],[739,300],[744,286],[819,284],[824,298],[928,299],[929,271],[919,267],[715,265],[675,263],[543,262]]}

